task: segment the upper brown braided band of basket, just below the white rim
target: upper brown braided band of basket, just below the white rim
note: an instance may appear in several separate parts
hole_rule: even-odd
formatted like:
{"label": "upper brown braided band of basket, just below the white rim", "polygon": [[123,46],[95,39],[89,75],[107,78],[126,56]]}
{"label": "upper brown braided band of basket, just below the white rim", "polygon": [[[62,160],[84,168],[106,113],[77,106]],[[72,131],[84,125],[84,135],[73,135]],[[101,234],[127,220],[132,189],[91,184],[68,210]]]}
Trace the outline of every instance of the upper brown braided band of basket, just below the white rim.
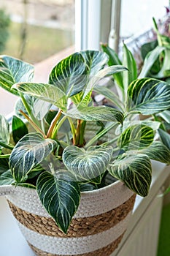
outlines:
{"label": "upper brown braided band of basket, just below the white rim", "polygon": [[113,227],[118,222],[123,220],[132,210],[135,197],[136,195],[133,195],[121,206],[118,206],[117,208],[113,209],[112,211],[108,211],[107,213],[93,217],[72,219],[72,223],[69,227],[67,235],[61,232],[52,218],[30,214],[14,206],[9,201],[8,203],[15,218],[30,230],[34,230],[42,235],[68,238],[90,236],[96,233],[101,233]]}

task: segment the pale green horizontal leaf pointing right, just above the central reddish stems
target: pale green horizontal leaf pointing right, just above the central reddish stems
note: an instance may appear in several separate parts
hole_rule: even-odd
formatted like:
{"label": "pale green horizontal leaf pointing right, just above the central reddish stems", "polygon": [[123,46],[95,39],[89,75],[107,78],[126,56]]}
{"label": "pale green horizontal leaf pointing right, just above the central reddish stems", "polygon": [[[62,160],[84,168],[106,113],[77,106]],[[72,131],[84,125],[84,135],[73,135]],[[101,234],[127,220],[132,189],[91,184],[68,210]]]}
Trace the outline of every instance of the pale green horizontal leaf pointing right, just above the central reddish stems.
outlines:
{"label": "pale green horizontal leaf pointing right, just above the central reddish stems", "polygon": [[122,112],[109,107],[72,108],[63,114],[85,121],[117,121],[122,123],[124,118]]}

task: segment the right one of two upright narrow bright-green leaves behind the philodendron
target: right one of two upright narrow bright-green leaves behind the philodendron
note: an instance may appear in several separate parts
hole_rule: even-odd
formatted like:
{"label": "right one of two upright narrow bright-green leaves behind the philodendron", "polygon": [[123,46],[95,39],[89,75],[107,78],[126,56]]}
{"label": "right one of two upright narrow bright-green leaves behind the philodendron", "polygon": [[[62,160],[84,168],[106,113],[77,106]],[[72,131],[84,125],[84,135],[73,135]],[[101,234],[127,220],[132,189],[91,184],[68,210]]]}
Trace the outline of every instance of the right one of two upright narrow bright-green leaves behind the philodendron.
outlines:
{"label": "right one of two upright narrow bright-green leaves behind the philodendron", "polygon": [[126,94],[128,85],[137,78],[137,67],[134,56],[125,44],[123,44],[123,66],[129,70],[129,72],[123,72],[123,86]]}

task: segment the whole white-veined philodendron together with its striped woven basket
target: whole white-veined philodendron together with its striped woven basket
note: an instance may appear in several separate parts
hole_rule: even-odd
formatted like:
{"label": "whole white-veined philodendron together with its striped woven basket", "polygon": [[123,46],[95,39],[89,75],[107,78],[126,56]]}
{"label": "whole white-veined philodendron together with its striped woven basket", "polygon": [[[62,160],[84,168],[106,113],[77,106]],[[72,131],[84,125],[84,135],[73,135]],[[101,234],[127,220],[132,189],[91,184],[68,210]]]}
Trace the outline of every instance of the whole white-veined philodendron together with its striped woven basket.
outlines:
{"label": "whole white-veined philodendron together with its striped woven basket", "polygon": [[[0,194],[37,255],[110,255],[136,194],[149,192],[150,159],[170,162],[155,140],[161,122],[137,119],[169,108],[170,85],[136,79],[127,53],[129,71],[107,67],[100,51],[74,53],[47,84],[33,82],[31,64],[0,58],[0,85],[19,97],[12,119],[0,116]],[[105,86],[111,75],[122,99]],[[95,91],[114,108],[97,105]]]}

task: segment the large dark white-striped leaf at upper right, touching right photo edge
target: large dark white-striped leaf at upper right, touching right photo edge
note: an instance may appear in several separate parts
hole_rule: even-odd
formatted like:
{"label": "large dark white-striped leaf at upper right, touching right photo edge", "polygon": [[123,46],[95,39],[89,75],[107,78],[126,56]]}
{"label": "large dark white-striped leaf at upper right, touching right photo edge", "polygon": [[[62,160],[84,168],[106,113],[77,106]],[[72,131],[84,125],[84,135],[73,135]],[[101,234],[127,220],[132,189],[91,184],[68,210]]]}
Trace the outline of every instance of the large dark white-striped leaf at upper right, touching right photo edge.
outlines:
{"label": "large dark white-striped leaf at upper right, touching right photo edge", "polygon": [[134,80],[128,86],[128,112],[152,115],[169,108],[170,84],[153,78]]}

